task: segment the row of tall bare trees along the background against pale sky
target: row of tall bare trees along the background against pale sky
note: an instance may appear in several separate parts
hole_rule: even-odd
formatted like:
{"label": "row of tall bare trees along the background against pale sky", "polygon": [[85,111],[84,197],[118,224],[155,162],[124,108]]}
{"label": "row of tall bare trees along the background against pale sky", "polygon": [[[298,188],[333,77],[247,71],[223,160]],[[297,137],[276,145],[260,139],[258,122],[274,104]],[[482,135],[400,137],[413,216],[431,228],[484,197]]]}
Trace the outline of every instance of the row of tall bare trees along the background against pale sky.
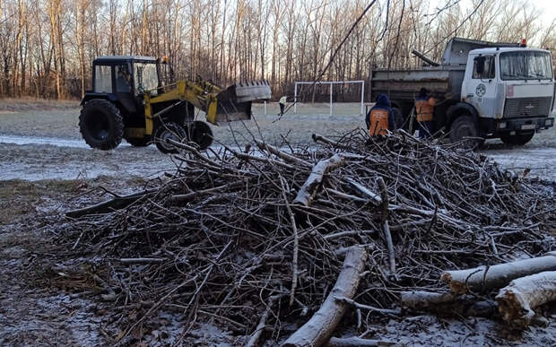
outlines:
{"label": "row of tall bare trees along the background against pale sky", "polygon": [[[517,42],[556,51],[556,19],[533,1],[377,0],[323,80],[366,80],[373,67],[439,60],[447,39]],[[265,79],[274,94],[311,81],[369,1],[0,0],[0,97],[79,98],[96,56],[168,56],[178,78],[222,86]],[[433,5],[435,4],[435,5]],[[440,7],[439,7],[440,6]]]}

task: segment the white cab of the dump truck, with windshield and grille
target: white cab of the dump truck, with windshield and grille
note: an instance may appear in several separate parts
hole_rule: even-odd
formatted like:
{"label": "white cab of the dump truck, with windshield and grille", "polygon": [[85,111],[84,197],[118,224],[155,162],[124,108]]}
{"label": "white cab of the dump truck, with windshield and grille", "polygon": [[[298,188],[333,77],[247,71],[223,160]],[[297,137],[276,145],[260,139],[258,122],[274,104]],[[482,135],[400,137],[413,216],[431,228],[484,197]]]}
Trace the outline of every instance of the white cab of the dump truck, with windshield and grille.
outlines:
{"label": "white cab of the dump truck, with windshield and grille", "polygon": [[549,51],[473,49],[467,57],[461,102],[477,113],[480,134],[525,144],[553,126],[554,76]]}

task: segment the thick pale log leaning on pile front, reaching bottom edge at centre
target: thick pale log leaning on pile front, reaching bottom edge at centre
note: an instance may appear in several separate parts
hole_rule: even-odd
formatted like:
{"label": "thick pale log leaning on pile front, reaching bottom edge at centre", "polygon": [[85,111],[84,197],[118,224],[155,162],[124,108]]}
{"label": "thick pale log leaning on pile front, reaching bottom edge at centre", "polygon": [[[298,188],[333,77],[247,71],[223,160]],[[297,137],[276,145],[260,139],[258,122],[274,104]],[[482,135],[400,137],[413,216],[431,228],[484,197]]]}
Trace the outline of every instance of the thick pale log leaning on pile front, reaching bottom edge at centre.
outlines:
{"label": "thick pale log leaning on pile front, reaching bottom edge at centre", "polygon": [[334,288],[326,297],[325,302],[311,317],[307,323],[282,344],[283,347],[311,346],[317,347],[328,342],[330,335],[343,317],[348,307],[343,301],[334,297],[352,299],[357,291],[359,280],[365,261],[367,251],[363,247],[352,247],[345,255],[343,268]]}

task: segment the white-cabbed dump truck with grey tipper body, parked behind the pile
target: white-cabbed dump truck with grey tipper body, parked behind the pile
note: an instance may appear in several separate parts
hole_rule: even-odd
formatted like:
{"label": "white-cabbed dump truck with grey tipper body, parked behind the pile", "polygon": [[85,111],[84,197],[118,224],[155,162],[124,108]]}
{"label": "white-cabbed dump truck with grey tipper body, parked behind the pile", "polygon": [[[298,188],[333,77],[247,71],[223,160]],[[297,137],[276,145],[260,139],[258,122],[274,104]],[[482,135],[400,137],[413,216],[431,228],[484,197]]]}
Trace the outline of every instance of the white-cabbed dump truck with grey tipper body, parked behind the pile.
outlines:
{"label": "white-cabbed dump truck with grey tipper body, parked behind the pile", "polygon": [[[526,48],[526,43],[494,43],[451,39],[437,63],[420,52],[418,69],[375,70],[371,98],[390,96],[396,126],[413,131],[414,100],[425,88],[439,100],[434,112],[437,130],[457,142],[487,138],[525,144],[541,129],[554,125],[555,83],[551,52]],[[412,128],[410,128],[412,127]]]}

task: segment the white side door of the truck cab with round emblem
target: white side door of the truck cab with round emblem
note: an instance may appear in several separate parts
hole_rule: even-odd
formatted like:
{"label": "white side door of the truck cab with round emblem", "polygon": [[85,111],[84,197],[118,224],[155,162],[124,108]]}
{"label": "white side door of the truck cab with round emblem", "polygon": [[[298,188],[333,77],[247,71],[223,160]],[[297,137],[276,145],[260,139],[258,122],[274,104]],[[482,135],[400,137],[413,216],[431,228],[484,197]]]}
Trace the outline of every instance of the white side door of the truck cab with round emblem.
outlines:
{"label": "white side door of the truck cab with round emblem", "polygon": [[494,118],[498,108],[496,56],[475,56],[467,77],[462,91],[465,101],[473,105],[479,117]]}

